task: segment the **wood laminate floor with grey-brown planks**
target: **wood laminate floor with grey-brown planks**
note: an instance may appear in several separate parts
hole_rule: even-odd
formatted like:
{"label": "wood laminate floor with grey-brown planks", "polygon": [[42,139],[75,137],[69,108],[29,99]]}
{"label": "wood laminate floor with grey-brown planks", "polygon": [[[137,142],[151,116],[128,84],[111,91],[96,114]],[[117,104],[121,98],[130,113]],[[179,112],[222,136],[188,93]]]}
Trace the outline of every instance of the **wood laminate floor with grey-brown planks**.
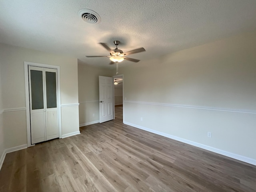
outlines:
{"label": "wood laminate floor with grey-brown planks", "polygon": [[6,154],[1,192],[255,192],[256,166],[122,124]]}

